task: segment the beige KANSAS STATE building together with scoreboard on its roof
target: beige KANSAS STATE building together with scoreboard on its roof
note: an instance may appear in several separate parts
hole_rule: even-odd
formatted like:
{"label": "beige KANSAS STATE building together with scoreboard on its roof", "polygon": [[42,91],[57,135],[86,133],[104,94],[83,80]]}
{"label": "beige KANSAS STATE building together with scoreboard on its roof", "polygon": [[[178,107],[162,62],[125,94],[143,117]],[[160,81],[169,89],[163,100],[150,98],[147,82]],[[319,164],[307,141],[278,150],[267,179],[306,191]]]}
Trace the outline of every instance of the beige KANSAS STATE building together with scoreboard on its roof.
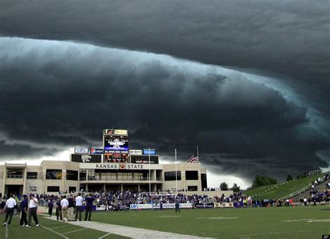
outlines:
{"label": "beige KANSAS STATE building together with scoreboard on its roof", "polygon": [[[175,173],[176,171],[176,173]],[[103,148],[77,147],[70,161],[44,160],[0,165],[0,192],[77,192],[80,190],[201,191],[207,175],[201,163],[159,164],[155,149],[129,150],[126,130],[105,129]]]}

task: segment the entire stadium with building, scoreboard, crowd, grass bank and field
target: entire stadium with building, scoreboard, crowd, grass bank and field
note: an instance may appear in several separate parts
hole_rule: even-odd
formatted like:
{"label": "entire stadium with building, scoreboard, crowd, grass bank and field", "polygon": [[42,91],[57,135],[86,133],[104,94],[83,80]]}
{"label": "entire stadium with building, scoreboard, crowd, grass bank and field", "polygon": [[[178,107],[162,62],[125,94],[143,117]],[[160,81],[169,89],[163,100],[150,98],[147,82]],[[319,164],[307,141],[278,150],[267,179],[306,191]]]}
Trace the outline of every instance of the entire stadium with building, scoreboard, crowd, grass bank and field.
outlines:
{"label": "entire stadium with building, scoreboard, crowd, grass bank and field", "polygon": [[[330,234],[327,172],[316,170],[245,192],[207,190],[207,171],[198,156],[189,163],[159,164],[156,149],[129,149],[128,142],[127,130],[105,129],[102,149],[76,147],[70,161],[1,165],[1,238],[45,238],[46,233],[47,238]],[[31,209],[24,212],[21,206],[28,198],[38,200],[34,224],[30,212],[27,224],[22,219]],[[7,213],[10,200],[16,202],[13,217]]]}

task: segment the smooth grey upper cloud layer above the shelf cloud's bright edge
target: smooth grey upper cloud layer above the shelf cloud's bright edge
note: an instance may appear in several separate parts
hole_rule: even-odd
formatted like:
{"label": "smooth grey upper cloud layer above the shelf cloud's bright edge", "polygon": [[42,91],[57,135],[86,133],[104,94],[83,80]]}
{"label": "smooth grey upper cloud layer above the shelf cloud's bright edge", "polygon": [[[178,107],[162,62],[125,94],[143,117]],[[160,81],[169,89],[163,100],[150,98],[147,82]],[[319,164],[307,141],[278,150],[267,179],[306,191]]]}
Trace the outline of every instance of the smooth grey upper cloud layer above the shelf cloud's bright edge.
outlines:
{"label": "smooth grey upper cloud layer above the shelf cloud's bright edge", "polygon": [[80,40],[290,77],[330,113],[329,1],[2,1],[0,34]]}

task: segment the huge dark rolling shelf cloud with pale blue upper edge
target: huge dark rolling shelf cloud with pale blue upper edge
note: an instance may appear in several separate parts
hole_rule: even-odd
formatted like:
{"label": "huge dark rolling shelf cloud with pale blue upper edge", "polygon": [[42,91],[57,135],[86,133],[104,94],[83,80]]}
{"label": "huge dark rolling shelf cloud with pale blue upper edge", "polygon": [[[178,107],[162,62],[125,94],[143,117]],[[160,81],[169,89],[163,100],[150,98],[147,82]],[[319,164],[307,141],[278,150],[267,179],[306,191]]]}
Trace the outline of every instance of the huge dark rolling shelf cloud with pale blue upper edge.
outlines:
{"label": "huge dark rolling shelf cloud with pale blue upper edge", "polygon": [[329,131],[251,75],[72,42],[1,38],[0,48],[0,132],[12,142],[97,146],[113,126],[129,130],[131,148],[177,148],[180,160],[198,145],[213,172],[285,176],[327,165],[315,153],[329,148]]}

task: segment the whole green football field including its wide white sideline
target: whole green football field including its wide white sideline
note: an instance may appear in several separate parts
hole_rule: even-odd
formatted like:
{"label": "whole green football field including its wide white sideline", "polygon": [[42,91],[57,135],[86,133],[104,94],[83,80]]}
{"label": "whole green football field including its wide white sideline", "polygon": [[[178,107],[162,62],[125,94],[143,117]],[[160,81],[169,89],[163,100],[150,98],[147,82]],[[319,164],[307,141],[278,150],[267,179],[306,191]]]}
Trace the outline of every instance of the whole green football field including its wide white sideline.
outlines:
{"label": "whole green football field including its wide white sideline", "polygon": [[[54,216],[53,216],[54,217]],[[1,226],[0,238],[321,238],[330,234],[330,206],[184,209],[93,213],[93,222],[58,222],[38,215],[40,227]],[[53,218],[54,219],[54,218]],[[3,222],[3,215],[0,217]],[[116,226],[118,225],[118,226]],[[108,230],[105,230],[109,226]],[[112,226],[112,227],[111,227]],[[124,227],[123,227],[124,226]],[[125,227],[127,226],[127,227]],[[141,233],[140,229],[148,229]],[[153,230],[153,231],[149,231]],[[111,233],[113,231],[113,233]],[[179,234],[179,235],[178,235]],[[157,236],[156,236],[157,235]],[[186,237],[187,238],[187,237]]]}

